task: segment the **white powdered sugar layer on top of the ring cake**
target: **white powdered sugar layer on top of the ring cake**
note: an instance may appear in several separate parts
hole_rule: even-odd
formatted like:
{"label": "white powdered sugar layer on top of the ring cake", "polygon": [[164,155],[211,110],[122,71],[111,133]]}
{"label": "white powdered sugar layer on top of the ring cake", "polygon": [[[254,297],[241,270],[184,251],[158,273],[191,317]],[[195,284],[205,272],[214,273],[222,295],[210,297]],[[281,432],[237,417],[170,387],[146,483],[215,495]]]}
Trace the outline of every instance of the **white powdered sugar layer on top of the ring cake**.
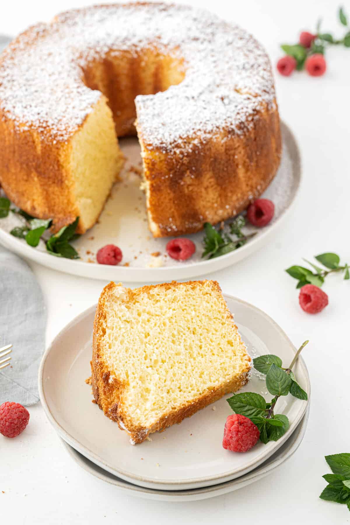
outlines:
{"label": "white powdered sugar layer on top of the ring cake", "polygon": [[67,141],[101,97],[83,70],[145,48],[183,58],[186,71],[178,86],[136,97],[139,134],[153,146],[186,153],[223,129],[225,140],[275,103],[269,59],[246,31],[187,6],[128,4],[73,10],[20,35],[0,58],[0,112],[18,130]]}

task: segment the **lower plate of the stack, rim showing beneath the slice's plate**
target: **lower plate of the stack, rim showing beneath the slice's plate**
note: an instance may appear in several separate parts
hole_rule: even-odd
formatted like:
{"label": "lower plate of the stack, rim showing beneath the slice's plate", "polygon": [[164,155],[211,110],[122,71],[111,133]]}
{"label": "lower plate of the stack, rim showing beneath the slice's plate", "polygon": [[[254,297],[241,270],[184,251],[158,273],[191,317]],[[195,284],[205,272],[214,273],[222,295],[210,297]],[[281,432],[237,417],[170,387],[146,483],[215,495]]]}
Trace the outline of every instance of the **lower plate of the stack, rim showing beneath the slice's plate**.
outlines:
{"label": "lower plate of the stack, rim showing beneath the slice's plate", "polygon": [[90,472],[92,476],[95,476],[102,481],[110,483],[115,487],[118,487],[128,496],[137,496],[145,499],[153,500],[162,500],[162,501],[194,501],[200,499],[214,498],[215,496],[221,496],[227,492],[233,492],[234,490],[241,489],[258,481],[259,479],[264,478],[270,474],[275,468],[279,467],[287,461],[294,452],[298,449],[299,445],[302,442],[302,439],[306,432],[307,420],[309,419],[310,406],[307,407],[307,410],[299,423],[298,427],[294,430],[293,434],[283,445],[278,449],[277,452],[272,454],[269,459],[264,461],[260,467],[254,468],[239,478],[233,479],[232,481],[226,481],[226,483],[220,483],[218,485],[213,485],[209,487],[203,487],[199,489],[189,489],[189,490],[154,490],[147,489],[145,487],[139,487],[138,485],[133,485],[128,481],[124,481],[121,478],[113,476],[107,470],[99,467],[90,459],[86,458],[75,448],[68,445],[64,439],[61,439],[63,446],[65,446],[69,455],[76,461],[80,467],[82,467],[87,472]]}

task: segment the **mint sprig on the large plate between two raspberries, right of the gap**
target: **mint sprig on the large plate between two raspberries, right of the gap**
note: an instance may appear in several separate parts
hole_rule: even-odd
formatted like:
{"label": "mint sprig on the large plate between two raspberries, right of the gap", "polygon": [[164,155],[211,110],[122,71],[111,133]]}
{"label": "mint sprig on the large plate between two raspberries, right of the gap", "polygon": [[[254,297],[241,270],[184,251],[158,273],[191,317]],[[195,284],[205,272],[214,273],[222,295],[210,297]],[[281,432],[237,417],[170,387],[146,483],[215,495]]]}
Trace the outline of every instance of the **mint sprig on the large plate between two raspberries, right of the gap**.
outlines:
{"label": "mint sprig on the large plate between two raspberries, right of the gap", "polygon": [[236,239],[232,239],[229,234],[221,234],[215,226],[210,223],[204,224],[205,236],[203,239],[204,251],[202,258],[208,256],[208,259],[220,257],[240,248],[246,244],[247,240],[256,235],[256,232],[245,235],[242,232],[242,227],[245,226],[246,221],[242,215],[238,215],[236,219],[229,225],[230,234],[235,235]]}

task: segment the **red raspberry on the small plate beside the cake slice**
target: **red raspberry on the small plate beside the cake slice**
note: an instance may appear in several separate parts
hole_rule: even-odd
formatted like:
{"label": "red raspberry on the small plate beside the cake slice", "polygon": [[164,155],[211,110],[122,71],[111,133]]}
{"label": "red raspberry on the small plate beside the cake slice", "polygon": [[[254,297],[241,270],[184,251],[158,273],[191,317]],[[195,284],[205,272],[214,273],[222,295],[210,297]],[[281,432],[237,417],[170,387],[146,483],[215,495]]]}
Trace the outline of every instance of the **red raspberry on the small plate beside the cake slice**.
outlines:
{"label": "red raspberry on the small plate beside the cake slice", "polygon": [[259,428],[248,417],[232,414],[226,419],[222,446],[232,452],[247,452],[259,437]]}

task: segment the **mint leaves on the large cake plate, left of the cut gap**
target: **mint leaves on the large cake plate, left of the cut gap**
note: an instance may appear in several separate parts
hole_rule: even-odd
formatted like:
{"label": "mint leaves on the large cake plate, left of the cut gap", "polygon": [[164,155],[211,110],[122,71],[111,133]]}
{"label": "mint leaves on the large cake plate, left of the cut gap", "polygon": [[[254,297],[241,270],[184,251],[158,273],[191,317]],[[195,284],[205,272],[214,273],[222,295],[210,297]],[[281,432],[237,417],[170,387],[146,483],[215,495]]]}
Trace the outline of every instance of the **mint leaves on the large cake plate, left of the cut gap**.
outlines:
{"label": "mint leaves on the large cake plate, left of the cut gap", "polygon": [[[19,239],[25,239],[27,244],[34,248],[38,246],[40,239],[52,225],[52,219],[37,219],[24,212],[23,209],[11,207],[8,198],[0,197],[0,218],[7,217],[9,212],[20,215],[25,219],[25,224],[23,226],[16,226],[10,231],[10,234]],[[78,223],[79,217],[71,224],[63,226],[57,234],[51,235],[51,237],[45,241],[46,249],[50,255],[65,257],[66,259],[79,259],[78,252],[70,244],[70,241],[79,237],[79,235],[76,234]]]}

